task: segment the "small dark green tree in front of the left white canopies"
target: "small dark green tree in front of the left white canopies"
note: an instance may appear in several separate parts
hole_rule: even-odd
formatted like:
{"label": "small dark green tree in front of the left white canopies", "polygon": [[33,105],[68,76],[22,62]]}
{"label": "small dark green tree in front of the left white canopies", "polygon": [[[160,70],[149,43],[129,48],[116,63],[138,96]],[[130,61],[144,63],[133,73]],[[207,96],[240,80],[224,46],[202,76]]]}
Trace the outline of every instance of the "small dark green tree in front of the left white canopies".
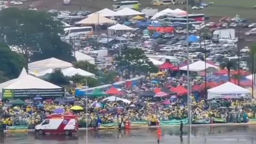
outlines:
{"label": "small dark green tree in front of the left white canopies", "polygon": [[56,85],[67,85],[69,84],[68,78],[66,78],[61,70],[57,69],[54,70],[49,78],[49,82],[56,84]]}

